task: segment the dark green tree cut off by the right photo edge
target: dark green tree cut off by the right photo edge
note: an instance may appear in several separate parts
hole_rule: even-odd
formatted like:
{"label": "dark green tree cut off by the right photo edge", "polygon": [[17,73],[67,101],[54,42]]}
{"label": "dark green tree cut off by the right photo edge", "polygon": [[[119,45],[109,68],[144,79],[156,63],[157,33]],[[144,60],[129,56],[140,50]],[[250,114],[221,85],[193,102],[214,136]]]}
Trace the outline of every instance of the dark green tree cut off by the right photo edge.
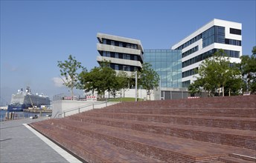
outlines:
{"label": "dark green tree cut off by the right photo edge", "polygon": [[240,70],[246,83],[245,90],[256,92],[256,46],[252,49],[252,56],[241,56]]}

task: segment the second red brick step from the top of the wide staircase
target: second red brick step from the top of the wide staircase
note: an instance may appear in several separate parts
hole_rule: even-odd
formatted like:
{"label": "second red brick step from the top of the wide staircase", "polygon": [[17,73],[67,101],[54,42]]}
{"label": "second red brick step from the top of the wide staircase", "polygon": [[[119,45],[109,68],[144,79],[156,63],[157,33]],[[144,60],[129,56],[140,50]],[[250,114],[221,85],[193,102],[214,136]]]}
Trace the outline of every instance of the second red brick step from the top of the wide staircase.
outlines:
{"label": "second red brick step from the top of the wide staircase", "polygon": [[182,116],[226,116],[226,117],[247,117],[256,118],[255,108],[243,109],[159,109],[158,107],[138,107],[135,109],[106,107],[103,109],[95,109],[95,112],[103,113],[140,113],[140,114],[165,114],[165,115],[182,115]]}

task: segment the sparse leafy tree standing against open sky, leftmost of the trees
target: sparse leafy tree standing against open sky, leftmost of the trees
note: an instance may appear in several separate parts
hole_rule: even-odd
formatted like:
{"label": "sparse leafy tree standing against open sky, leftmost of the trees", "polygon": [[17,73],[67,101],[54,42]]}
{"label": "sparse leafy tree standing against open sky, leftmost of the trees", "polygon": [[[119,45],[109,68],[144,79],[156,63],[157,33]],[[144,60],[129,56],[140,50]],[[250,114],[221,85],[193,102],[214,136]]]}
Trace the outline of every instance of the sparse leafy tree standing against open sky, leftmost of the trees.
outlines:
{"label": "sparse leafy tree standing against open sky, leftmost of the trees", "polygon": [[58,61],[57,66],[60,67],[60,76],[63,76],[65,78],[61,78],[63,79],[63,84],[71,91],[71,97],[73,99],[73,89],[77,86],[77,70],[83,69],[84,71],[86,71],[86,68],[84,68],[81,65],[81,62],[77,61],[75,57],[71,55],[68,56],[68,61]]}

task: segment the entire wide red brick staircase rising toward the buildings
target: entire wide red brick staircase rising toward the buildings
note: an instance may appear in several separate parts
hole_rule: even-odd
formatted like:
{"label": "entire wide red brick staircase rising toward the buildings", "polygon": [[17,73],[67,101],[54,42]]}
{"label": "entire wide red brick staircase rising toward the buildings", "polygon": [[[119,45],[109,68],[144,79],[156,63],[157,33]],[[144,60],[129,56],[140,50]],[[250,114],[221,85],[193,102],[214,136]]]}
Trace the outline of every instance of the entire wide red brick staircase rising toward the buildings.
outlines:
{"label": "entire wide red brick staircase rising toward the buildings", "polygon": [[31,126],[83,162],[256,162],[256,96],[123,102]]}

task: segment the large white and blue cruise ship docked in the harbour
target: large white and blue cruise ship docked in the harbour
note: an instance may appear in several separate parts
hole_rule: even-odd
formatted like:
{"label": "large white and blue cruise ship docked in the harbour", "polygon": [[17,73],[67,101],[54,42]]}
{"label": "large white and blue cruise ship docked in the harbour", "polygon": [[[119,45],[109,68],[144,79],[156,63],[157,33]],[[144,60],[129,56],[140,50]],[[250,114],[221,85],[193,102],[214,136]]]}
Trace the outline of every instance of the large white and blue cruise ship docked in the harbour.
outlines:
{"label": "large white and blue cruise ship docked in the harbour", "polygon": [[23,109],[28,109],[28,107],[41,107],[42,105],[50,105],[50,99],[48,96],[43,94],[34,95],[31,93],[30,87],[26,87],[25,92],[21,89],[18,93],[12,95],[10,104],[7,107],[7,111],[23,111]]}

